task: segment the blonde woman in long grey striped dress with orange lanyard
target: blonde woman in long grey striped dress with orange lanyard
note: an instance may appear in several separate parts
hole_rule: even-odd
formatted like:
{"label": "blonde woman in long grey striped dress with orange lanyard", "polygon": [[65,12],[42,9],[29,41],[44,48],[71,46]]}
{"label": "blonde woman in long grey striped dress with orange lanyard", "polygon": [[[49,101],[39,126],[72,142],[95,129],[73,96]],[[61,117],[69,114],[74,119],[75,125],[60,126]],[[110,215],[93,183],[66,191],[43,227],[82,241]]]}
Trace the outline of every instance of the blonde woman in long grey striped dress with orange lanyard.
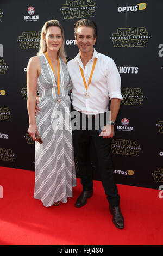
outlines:
{"label": "blonde woman in long grey striped dress with orange lanyard", "polygon": [[[41,31],[40,50],[30,58],[27,67],[28,132],[34,141],[39,135],[43,142],[35,143],[34,198],[46,207],[66,203],[67,197],[72,197],[72,187],[76,186],[68,96],[70,78],[64,47],[60,23],[46,22]],[[41,111],[35,117],[37,90]]]}

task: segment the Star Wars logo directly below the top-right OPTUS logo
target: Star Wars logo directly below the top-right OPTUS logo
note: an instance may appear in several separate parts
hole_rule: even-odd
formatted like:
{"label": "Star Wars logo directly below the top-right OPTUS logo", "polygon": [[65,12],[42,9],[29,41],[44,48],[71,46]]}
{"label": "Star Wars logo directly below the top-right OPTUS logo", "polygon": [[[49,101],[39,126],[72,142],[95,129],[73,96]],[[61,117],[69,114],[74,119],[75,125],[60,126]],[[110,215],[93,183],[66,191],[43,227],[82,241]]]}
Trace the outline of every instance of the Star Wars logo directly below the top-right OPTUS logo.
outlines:
{"label": "Star Wars logo directly below the top-right OPTUS logo", "polygon": [[115,48],[145,47],[149,38],[145,27],[118,28],[110,37]]}

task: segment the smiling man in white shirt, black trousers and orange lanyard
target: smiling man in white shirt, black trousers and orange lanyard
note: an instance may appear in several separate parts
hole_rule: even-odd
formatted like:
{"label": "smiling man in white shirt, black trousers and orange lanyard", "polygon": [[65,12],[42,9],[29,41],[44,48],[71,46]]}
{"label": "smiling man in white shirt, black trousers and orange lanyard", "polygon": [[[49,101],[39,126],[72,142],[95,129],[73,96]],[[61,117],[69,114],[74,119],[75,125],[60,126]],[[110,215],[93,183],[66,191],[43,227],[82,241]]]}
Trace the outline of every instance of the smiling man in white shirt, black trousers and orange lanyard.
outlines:
{"label": "smiling man in white shirt, black trousers and orange lanyard", "polygon": [[[101,175],[102,185],[109,202],[109,209],[113,215],[113,223],[117,228],[124,228],[124,219],[120,209],[120,196],[114,180],[110,154],[110,138],[114,135],[114,124],[122,100],[121,78],[114,61],[93,48],[96,42],[97,29],[94,22],[82,19],[74,25],[78,55],[67,63],[72,81],[72,105],[78,111],[81,119],[86,117],[86,130],[73,131],[74,152],[77,156],[81,173],[83,192],[77,199],[77,208],[87,203],[87,198],[93,194],[93,179],[89,149],[93,143]],[[111,121],[106,120],[109,100]],[[93,127],[95,120],[103,115],[105,126],[102,130],[89,130],[91,117]],[[82,127],[82,125],[81,125]]]}

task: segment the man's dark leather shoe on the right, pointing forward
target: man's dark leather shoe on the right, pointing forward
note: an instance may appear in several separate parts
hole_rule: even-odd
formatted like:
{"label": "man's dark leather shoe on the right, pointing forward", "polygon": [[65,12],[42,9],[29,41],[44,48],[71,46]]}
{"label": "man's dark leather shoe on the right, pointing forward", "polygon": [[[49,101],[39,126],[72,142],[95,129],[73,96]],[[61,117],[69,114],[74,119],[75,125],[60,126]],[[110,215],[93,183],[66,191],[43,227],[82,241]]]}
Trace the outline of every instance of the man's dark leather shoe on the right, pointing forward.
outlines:
{"label": "man's dark leather shoe on the right, pointing forward", "polygon": [[124,228],[124,218],[121,213],[120,206],[112,207],[109,205],[109,210],[113,215],[112,222],[117,228]]}

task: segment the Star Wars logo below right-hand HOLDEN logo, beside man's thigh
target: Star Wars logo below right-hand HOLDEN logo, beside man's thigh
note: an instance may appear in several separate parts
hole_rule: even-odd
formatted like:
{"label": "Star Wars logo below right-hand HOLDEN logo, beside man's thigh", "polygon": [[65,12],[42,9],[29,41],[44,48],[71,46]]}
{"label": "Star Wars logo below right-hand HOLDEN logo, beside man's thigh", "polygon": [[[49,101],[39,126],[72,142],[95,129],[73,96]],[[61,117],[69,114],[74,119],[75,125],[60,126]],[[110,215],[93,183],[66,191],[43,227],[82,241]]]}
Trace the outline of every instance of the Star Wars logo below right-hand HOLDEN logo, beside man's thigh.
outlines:
{"label": "Star Wars logo below right-hand HOLDEN logo, beside man's thigh", "polygon": [[128,139],[112,139],[111,153],[126,156],[138,156],[140,153],[140,145],[137,141],[129,141]]}

